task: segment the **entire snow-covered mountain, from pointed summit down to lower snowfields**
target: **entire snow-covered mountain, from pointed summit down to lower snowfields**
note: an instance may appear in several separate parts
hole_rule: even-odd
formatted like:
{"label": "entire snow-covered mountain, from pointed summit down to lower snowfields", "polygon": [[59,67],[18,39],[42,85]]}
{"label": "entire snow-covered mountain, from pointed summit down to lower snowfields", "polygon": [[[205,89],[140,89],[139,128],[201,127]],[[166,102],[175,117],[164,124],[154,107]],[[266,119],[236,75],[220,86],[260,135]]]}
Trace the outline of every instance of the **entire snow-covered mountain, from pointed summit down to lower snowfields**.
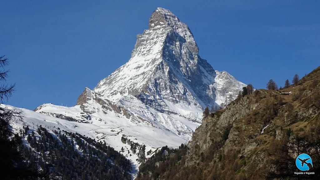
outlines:
{"label": "entire snow-covered mountain, from pointed summit down to lower snowfields", "polygon": [[[140,159],[161,146],[178,147],[191,139],[206,106],[220,105],[229,94],[236,98],[245,86],[227,72],[215,71],[198,51],[188,26],[157,8],[149,28],[137,35],[129,61],[93,90],[85,88],[76,106],[43,104],[34,110],[41,116],[27,114],[39,117],[39,123],[48,116],[55,117],[48,118],[52,123],[73,121],[75,131],[119,151],[127,147],[133,152],[132,143],[146,145],[135,153]],[[128,158],[139,163],[137,157]]]}

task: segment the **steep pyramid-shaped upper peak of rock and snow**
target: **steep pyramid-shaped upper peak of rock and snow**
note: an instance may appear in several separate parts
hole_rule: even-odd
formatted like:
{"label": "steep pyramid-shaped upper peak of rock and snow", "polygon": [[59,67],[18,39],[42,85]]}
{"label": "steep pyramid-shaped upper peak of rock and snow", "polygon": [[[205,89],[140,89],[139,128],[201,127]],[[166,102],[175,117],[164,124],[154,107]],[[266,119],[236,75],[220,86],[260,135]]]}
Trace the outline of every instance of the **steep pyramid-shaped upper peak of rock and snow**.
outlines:
{"label": "steep pyramid-shaped upper peak of rock and snow", "polygon": [[188,26],[169,10],[157,8],[148,30],[137,35],[131,59],[93,91],[109,98],[132,95],[159,111],[171,111],[168,103],[200,110],[220,104],[227,93],[236,95],[245,86],[232,81],[217,92],[223,84],[215,85],[216,72],[198,51]]}

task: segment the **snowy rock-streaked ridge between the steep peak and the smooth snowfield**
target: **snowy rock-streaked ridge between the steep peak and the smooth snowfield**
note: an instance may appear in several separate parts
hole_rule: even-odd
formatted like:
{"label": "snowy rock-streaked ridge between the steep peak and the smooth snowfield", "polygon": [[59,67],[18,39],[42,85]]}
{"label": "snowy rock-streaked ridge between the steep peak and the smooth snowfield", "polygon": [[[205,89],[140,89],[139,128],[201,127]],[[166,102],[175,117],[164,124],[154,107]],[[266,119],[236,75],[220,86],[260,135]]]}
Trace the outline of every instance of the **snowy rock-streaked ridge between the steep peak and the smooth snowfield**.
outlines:
{"label": "snowy rock-streaked ridge between the steep peak and the smooth snowfield", "polygon": [[91,123],[104,128],[155,127],[170,131],[179,138],[185,139],[184,141],[190,139],[192,129],[200,125],[196,117],[201,112],[197,112],[196,107],[186,109],[181,103],[175,106],[168,102],[168,105],[172,106],[174,111],[158,112],[132,95],[112,101],[85,88],[74,107],[43,104],[35,111],[68,121]]}

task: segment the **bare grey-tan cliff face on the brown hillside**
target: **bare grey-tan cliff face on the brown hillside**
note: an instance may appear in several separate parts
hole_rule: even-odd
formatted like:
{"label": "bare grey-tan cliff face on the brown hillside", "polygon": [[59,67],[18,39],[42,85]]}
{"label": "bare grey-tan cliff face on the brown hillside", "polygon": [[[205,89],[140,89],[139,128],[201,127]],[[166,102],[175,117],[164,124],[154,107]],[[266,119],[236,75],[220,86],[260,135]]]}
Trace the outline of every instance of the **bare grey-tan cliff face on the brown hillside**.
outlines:
{"label": "bare grey-tan cliff face on the brown hillside", "polygon": [[[261,91],[261,90],[260,90]],[[264,93],[264,91],[261,91]],[[255,102],[257,98],[251,96],[250,98],[241,98],[237,103],[231,103],[222,112],[216,113],[213,117],[204,118],[201,126],[195,131],[192,136],[192,141],[189,143],[189,160],[187,165],[195,164],[199,161],[196,157],[192,158],[195,154],[205,153],[208,148],[211,148],[214,142],[220,142],[220,148],[222,148],[222,142],[225,141],[223,152],[228,150],[241,150],[245,154],[252,151],[255,142],[249,143],[248,146],[239,147],[235,144],[245,143],[250,141],[252,137],[241,139],[239,134],[242,131],[248,130],[248,127],[239,120],[248,116],[253,110],[259,109],[260,104]],[[254,132],[254,136],[259,136],[263,124],[259,127],[250,127],[251,134]],[[226,134],[225,134],[226,133]],[[221,135],[224,135],[223,137]]]}

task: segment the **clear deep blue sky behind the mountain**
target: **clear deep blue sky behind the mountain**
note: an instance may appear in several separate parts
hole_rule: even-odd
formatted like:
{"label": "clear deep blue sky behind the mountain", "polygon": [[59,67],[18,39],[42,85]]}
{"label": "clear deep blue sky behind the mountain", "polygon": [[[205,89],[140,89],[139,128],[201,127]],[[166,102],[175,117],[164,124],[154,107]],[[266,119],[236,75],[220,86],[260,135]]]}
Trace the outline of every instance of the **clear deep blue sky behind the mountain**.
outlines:
{"label": "clear deep blue sky behind the mountain", "polygon": [[254,88],[284,86],[320,66],[320,1],[0,1],[0,55],[10,60],[6,104],[73,106],[85,87],[130,59],[157,7],[186,23],[199,55]]}

